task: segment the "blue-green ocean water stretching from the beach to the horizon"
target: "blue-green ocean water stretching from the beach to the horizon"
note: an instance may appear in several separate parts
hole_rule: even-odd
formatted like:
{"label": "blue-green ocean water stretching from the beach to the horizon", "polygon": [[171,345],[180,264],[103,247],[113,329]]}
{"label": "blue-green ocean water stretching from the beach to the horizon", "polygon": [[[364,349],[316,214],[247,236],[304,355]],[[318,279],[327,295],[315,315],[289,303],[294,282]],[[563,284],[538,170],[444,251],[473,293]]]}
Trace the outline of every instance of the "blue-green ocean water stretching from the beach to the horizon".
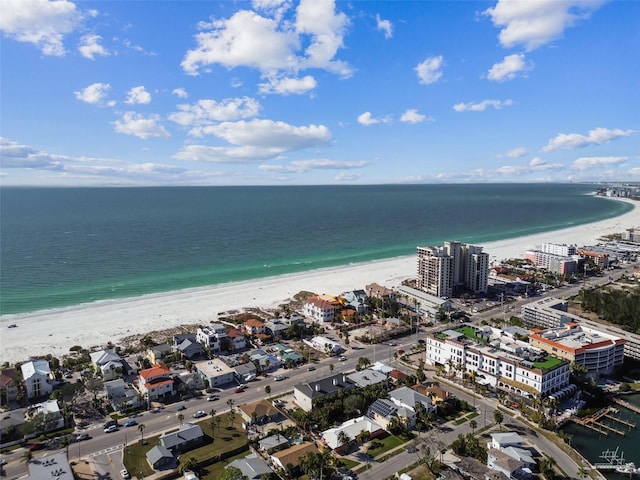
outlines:
{"label": "blue-green ocean water stretching from the beach to the horizon", "polygon": [[594,189],[1,188],[0,313],[413,255],[445,240],[481,245],[632,208]]}

